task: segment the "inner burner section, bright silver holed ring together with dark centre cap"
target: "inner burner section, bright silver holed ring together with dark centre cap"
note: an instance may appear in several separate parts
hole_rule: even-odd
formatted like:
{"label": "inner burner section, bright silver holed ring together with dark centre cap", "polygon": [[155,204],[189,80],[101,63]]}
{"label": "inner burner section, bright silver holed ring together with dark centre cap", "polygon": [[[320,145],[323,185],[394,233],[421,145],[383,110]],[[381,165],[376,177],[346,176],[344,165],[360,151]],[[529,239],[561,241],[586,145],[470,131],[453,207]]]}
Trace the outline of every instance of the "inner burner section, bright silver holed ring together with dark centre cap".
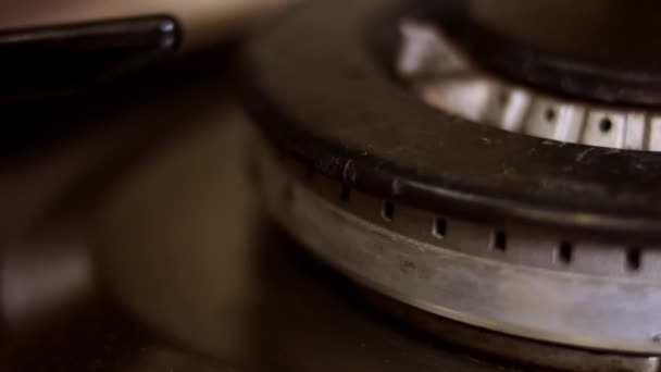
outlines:
{"label": "inner burner section, bright silver holed ring together with dark centre cap", "polygon": [[661,148],[657,3],[439,3],[401,25],[399,73],[428,103],[546,139]]}

